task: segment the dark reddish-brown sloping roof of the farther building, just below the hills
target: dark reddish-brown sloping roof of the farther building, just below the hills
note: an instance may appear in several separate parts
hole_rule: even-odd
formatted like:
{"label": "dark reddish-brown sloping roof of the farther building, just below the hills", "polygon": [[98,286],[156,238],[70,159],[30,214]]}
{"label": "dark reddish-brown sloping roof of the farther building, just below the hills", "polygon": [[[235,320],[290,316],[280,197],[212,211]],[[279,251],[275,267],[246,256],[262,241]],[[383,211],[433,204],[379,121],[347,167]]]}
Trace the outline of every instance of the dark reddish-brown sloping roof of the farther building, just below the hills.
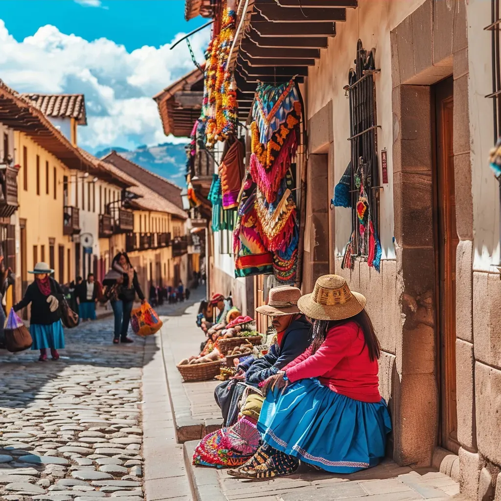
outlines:
{"label": "dark reddish-brown sloping roof of the farther building, just below the hills", "polygon": [[136,182],[139,181],[150,190],[158,193],[161,197],[177,206],[179,210],[184,213],[183,203],[181,200],[181,188],[179,186],[176,186],[174,183],[167,181],[167,179],[146,170],[144,167],[141,167],[130,160],[127,160],[114,150],[101,160],[113,164],[122,172],[125,172],[132,177]]}

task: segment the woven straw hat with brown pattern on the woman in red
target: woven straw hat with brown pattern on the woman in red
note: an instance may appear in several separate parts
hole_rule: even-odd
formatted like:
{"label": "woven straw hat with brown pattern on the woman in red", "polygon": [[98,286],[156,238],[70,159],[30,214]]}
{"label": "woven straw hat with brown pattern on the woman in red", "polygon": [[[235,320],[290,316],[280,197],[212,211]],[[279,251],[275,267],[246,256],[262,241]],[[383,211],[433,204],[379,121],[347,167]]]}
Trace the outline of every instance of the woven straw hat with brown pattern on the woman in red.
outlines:
{"label": "woven straw hat with brown pattern on the woman in red", "polygon": [[312,319],[344,320],[360,313],[366,302],[362,294],[350,291],[343,277],[323,275],[317,279],[313,293],[302,296],[298,306]]}

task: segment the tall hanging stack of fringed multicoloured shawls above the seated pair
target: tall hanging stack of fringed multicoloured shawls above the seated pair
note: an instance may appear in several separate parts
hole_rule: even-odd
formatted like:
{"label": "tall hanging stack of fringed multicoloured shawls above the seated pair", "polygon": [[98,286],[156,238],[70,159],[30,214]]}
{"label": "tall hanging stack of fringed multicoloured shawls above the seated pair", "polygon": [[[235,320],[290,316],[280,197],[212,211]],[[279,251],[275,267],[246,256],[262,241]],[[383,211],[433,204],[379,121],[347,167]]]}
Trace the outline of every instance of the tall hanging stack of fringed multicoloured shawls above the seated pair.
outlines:
{"label": "tall hanging stack of fringed multicoloured shawls above the seated pair", "polygon": [[294,81],[260,83],[252,116],[252,152],[234,233],[235,276],[273,271],[279,281],[291,283],[296,278],[299,221],[286,178],[301,121]]}

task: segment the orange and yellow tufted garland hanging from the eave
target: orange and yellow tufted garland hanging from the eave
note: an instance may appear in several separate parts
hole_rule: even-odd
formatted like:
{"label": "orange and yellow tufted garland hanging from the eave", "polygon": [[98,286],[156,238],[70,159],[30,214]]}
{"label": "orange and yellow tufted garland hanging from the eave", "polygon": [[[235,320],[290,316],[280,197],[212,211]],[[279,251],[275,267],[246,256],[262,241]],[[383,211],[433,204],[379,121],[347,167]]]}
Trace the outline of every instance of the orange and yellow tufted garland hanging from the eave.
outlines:
{"label": "orange and yellow tufted garland hanging from the eave", "polygon": [[235,35],[236,13],[224,9],[221,30],[205,53],[204,96],[200,119],[206,123],[206,145],[212,147],[234,134],[237,124],[236,85],[227,71],[228,56]]}

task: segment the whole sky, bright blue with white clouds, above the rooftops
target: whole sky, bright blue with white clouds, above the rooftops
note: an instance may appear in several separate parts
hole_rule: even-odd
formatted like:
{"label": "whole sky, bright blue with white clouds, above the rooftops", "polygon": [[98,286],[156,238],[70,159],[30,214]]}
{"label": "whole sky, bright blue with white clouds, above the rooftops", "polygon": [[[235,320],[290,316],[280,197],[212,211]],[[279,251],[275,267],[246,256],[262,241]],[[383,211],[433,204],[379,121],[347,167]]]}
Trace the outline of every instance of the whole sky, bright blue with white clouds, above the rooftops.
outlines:
{"label": "whole sky, bright blue with white clouds, above the rooftops", "polygon": [[[94,153],[166,138],[152,96],[193,69],[186,43],[204,24],[184,0],[0,0],[0,79],[19,92],[85,94],[80,146]],[[20,13],[23,13],[22,15]],[[190,38],[203,61],[210,32]]]}

